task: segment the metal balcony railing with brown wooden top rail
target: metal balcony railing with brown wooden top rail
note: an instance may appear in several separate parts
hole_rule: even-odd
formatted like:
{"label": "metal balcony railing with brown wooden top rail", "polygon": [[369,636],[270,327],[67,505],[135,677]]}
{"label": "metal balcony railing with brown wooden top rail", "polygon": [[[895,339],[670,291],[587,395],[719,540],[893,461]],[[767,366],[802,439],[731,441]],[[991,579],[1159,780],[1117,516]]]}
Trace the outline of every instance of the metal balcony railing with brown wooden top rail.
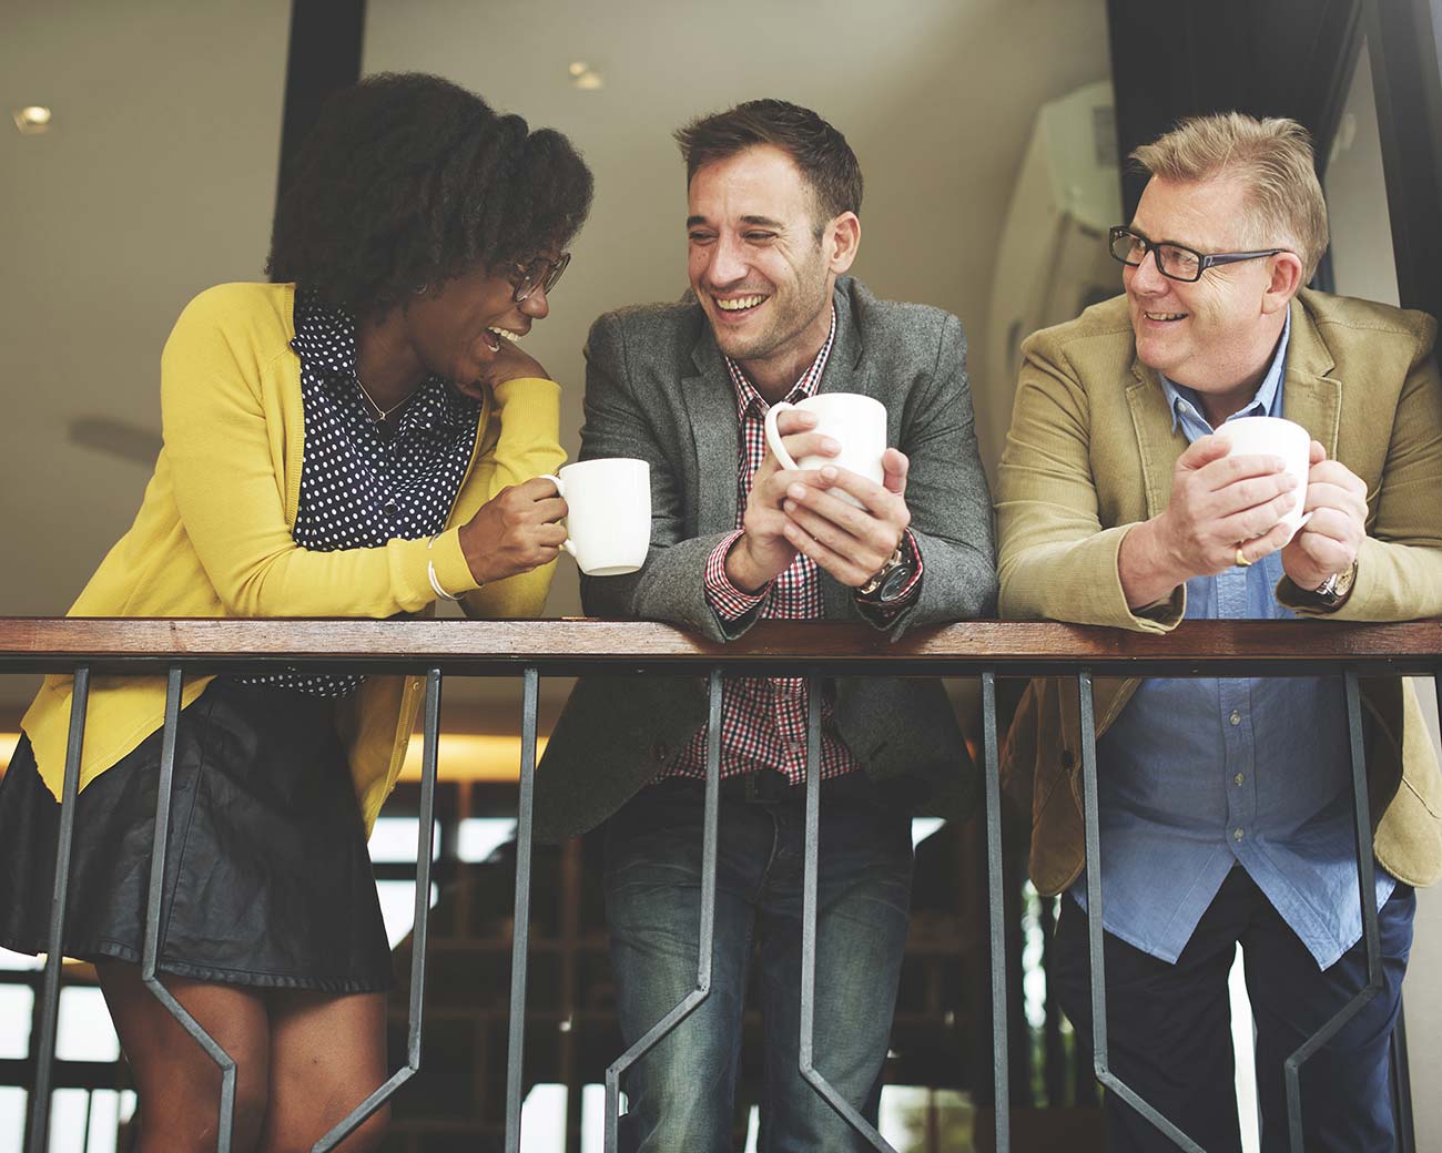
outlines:
{"label": "metal balcony railing with brown wooden top rail", "polygon": [[[61,940],[69,879],[74,809],[78,793],[85,711],[94,673],[164,673],[166,732],[156,813],[156,839],[147,909],[143,979],[222,1072],[219,1150],[231,1147],[235,1097],[234,1061],[174,1000],[156,977],[156,944],[174,731],[187,675],[254,673],[265,666],[311,672],[404,672],[425,676],[424,755],[417,830],[415,928],[410,987],[405,1065],[366,1097],[316,1143],[335,1149],[421,1068],[421,1010],[425,989],[425,935],[430,909],[430,863],[435,820],[435,773],[441,686],[448,676],[521,676],[523,679],[521,785],[516,829],[516,886],[512,940],[510,1020],[506,1077],[505,1149],[519,1153],[525,994],[531,911],[531,830],[535,780],[536,715],[541,676],[645,676],[678,667],[707,670],[711,739],[707,747],[704,882],[696,987],[606,1071],[606,1149],[617,1147],[620,1082],[626,1069],[701,1005],[711,987],[711,943],[715,915],[715,858],[720,796],[721,686],[731,676],[796,676],[810,683],[806,770],[806,839],[803,873],[803,943],[800,990],[800,1072],[846,1123],[875,1149],[891,1149],[849,1103],[826,1082],[813,1061],[812,1026],[816,980],[816,869],[820,813],[820,679],[875,675],[979,677],[988,855],[991,1012],[995,1088],[995,1141],[1009,1149],[1011,1100],[1007,1052],[1007,937],[1002,883],[1001,747],[996,679],[1076,677],[1080,703],[1083,817],[1086,832],[1089,948],[1092,961],[1092,1028],[1096,1078],[1136,1108],[1178,1149],[1198,1150],[1185,1133],[1142,1100],[1110,1068],[1106,1036],[1106,986],[1102,967],[1100,832],[1097,819],[1096,731],[1092,709],[1094,676],[1317,676],[1341,675],[1347,690],[1351,777],[1357,836],[1358,899],[1368,984],[1286,1062],[1291,1141],[1302,1149],[1301,1067],[1381,987],[1377,908],[1371,899],[1371,816],[1363,748],[1360,677],[1428,676],[1442,669],[1442,623],[1335,624],[1312,621],[1198,621],[1174,633],[1119,633],[1061,624],[979,621],[917,630],[895,644],[871,630],[816,623],[767,623],[731,644],[712,644],[668,626],[606,621],[177,621],[0,618],[0,672],[74,675],[69,749],[56,845],[55,904],[50,948],[39,1007],[33,1084],[29,1087],[27,1153],[45,1153],[53,1090],[55,1035],[61,984]],[[1399,1030],[1400,1032],[1400,1030]],[[1397,1117],[1402,1149],[1410,1153],[1410,1095],[1405,1041],[1393,1039]]]}

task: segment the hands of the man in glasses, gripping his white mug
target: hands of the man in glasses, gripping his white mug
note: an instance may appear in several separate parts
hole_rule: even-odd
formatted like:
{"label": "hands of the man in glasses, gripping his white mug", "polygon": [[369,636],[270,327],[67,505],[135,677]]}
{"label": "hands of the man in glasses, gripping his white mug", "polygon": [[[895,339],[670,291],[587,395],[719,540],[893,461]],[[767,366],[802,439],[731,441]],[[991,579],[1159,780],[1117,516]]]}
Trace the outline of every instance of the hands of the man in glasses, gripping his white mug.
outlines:
{"label": "hands of the man in glasses, gripping his white mug", "polygon": [[[1328,460],[1318,441],[1311,444],[1304,491],[1285,467],[1280,457],[1230,455],[1220,438],[1198,438],[1177,461],[1167,509],[1123,542],[1123,553],[1131,553],[1122,562],[1128,601],[1155,602],[1191,576],[1255,564],[1278,549],[1283,571],[1302,589],[1348,571],[1367,535],[1366,483]],[[1298,500],[1309,517],[1288,542],[1282,517]]]}

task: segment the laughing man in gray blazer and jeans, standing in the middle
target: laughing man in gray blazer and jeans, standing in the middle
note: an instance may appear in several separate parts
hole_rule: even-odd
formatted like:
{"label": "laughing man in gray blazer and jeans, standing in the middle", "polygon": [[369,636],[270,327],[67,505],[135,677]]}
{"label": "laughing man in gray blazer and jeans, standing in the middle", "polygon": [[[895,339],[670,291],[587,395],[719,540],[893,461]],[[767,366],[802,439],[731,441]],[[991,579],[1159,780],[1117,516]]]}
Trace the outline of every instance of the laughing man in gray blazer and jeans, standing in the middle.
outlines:
{"label": "laughing man in gray blazer and jeans, standing in the middle", "polygon": [[[603,316],[587,344],[581,458],[650,463],[652,546],[583,578],[587,613],[714,640],[760,618],[862,621],[891,637],[976,617],[996,591],[956,317],[844,275],[861,170],[835,128],[751,101],[678,134],[692,294]],[[859,392],[887,409],[883,483],[783,470],[779,401]],[[838,445],[805,411],[793,458]],[[859,504],[848,503],[842,493]],[[623,1147],[731,1149],[753,943],[766,1022],[766,1147],[870,1149],[797,1069],[806,682],[725,683],[712,987],[632,1069]],[[972,767],[936,680],[846,677],[822,703],[816,1067],[872,1124],[906,944],[910,814],[960,814]],[[622,1030],[634,1042],[695,986],[707,702],[696,676],[584,679],[536,775],[536,832],[609,819],[606,901]]]}

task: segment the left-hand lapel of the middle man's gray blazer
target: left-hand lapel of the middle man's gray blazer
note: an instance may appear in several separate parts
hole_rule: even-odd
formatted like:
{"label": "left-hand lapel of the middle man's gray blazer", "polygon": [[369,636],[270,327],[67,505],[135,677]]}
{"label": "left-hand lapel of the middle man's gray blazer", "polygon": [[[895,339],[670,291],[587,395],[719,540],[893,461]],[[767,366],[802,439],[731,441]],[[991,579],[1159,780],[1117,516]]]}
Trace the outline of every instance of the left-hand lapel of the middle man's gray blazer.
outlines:
{"label": "left-hand lapel of the middle man's gray blazer", "polygon": [[735,466],[741,427],[735,418],[735,388],[705,320],[691,360],[695,372],[682,379],[681,396],[696,450],[696,468],[686,477],[686,486],[696,510],[696,535],[707,536],[735,527]]}

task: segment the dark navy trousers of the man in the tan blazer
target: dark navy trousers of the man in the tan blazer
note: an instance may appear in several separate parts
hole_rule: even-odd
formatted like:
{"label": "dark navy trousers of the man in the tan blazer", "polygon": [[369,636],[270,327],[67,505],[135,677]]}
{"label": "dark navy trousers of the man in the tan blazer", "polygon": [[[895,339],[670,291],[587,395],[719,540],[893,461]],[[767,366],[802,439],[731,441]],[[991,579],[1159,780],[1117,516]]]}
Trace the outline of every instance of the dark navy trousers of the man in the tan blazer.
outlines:
{"label": "dark navy trousers of the man in the tan blazer", "polygon": [[[1412,948],[1416,896],[1397,882],[1377,914],[1381,992],[1302,1065],[1308,1153],[1392,1153],[1389,1043]],[[1087,915],[1061,898],[1057,986],[1083,1042],[1092,1030]],[[1282,1065],[1367,984],[1363,943],[1319,970],[1256,882],[1233,868],[1187,947],[1168,964],[1105,934],[1107,1049],[1112,1072],[1206,1150],[1240,1149],[1227,973],[1242,944],[1256,1020],[1263,1153],[1291,1149]],[[1419,1082],[1420,1084],[1420,1082]],[[1106,1095],[1115,1153],[1177,1146],[1115,1094]]]}

